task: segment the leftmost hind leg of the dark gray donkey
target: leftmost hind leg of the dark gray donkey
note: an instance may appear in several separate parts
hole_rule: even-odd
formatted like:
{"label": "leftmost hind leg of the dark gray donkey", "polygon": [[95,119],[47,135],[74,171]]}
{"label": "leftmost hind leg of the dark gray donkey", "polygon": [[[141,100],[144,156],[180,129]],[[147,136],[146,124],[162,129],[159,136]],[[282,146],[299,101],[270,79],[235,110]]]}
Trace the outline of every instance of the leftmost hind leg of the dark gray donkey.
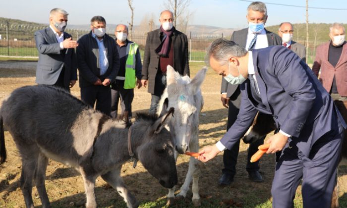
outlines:
{"label": "leftmost hind leg of the dark gray donkey", "polygon": [[31,193],[33,189],[33,178],[38,156],[34,155],[33,157],[36,158],[30,159],[24,157],[26,156],[23,156],[22,158],[22,174],[20,176],[19,184],[24,196],[25,206],[27,208],[34,208],[34,202],[31,197]]}

